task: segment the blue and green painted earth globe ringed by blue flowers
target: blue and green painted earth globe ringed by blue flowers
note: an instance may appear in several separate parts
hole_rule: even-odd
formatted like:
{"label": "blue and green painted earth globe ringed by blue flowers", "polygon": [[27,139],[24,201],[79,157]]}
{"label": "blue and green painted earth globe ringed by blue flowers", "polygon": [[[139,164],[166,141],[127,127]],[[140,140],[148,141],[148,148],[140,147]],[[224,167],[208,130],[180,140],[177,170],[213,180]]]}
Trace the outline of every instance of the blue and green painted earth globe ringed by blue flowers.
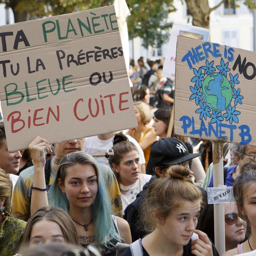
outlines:
{"label": "blue and green painted earth globe ringed by blue flowers", "polygon": [[[223,82],[220,82],[220,78],[223,79]],[[210,83],[210,81],[212,82]],[[219,90],[216,88],[219,88]],[[218,92],[218,96],[214,95],[212,90],[213,91],[215,90],[215,92]],[[206,76],[206,78],[204,79],[204,82],[202,84],[202,94],[203,94],[204,101],[210,108],[212,108],[215,111],[221,112],[226,108],[228,108],[228,106],[231,103],[232,87],[228,79],[226,78],[226,76],[223,76],[220,73],[214,72]]]}

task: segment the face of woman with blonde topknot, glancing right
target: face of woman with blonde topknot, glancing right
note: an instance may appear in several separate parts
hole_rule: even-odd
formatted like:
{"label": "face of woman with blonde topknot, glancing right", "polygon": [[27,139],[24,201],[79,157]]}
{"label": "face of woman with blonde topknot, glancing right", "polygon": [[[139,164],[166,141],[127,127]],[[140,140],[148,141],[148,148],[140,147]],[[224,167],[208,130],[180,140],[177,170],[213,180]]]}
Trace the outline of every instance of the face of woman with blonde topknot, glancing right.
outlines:
{"label": "face of woman with blonde topknot, glancing right", "polygon": [[196,229],[200,200],[190,202],[184,200],[180,207],[174,209],[165,221],[159,220],[157,228],[162,231],[165,240],[178,246],[188,244]]}

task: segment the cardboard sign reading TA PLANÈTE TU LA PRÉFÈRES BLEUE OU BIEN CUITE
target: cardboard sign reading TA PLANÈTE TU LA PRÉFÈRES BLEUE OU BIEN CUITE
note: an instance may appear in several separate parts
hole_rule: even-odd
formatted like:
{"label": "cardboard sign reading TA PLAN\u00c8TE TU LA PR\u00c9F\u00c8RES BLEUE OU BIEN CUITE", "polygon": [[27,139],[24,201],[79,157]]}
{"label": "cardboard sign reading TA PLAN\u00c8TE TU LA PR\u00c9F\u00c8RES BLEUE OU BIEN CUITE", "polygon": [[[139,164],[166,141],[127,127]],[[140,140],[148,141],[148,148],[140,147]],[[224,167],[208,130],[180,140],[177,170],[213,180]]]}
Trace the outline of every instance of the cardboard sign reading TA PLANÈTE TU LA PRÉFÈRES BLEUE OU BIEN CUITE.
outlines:
{"label": "cardboard sign reading TA PLAN\u00c8TE TU LA PR\u00c9F\u00c8RES BLEUE OU BIEN CUITE", "polygon": [[114,6],[0,27],[9,151],[137,125]]}

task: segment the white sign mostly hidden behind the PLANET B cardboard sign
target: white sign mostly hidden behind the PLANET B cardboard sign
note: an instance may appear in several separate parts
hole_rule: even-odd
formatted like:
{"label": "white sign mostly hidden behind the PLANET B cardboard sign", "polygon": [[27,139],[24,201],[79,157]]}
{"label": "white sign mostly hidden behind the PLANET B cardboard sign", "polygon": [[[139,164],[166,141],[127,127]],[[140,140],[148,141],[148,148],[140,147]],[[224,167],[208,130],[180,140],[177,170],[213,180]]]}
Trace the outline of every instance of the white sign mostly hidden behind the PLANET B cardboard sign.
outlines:
{"label": "white sign mostly hidden behind the PLANET B cardboard sign", "polygon": [[210,30],[207,28],[200,28],[196,26],[178,23],[174,23],[172,25],[172,32],[170,35],[168,50],[166,52],[162,72],[163,76],[168,78],[175,78],[176,44],[178,35],[208,41],[210,36]]}

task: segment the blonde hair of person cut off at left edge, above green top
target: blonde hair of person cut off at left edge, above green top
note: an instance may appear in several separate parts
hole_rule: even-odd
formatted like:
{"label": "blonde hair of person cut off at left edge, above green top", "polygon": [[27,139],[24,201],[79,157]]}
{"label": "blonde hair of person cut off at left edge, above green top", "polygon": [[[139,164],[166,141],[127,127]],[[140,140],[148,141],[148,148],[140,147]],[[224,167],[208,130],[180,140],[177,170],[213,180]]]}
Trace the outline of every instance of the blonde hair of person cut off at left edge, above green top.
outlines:
{"label": "blonde hair of person cut off at left edge, above green top", "polygon": [[0,196],[5,198],[4,207],[9,213],[11,213],[11,189],[12,182],[8,174],[0,168]]}

